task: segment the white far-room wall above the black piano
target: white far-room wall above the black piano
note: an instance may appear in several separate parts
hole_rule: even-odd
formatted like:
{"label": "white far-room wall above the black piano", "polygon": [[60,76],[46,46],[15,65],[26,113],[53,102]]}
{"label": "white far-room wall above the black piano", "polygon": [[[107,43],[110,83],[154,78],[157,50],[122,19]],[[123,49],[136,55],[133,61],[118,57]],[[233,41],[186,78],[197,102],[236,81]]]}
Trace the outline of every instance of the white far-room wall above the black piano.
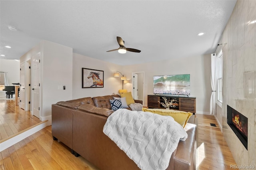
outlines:
{"label": "white far-room wall above the black piano", "polygon": [[0,59],[0,71],[8,73],[10,85],[20,83],[20,61]]}

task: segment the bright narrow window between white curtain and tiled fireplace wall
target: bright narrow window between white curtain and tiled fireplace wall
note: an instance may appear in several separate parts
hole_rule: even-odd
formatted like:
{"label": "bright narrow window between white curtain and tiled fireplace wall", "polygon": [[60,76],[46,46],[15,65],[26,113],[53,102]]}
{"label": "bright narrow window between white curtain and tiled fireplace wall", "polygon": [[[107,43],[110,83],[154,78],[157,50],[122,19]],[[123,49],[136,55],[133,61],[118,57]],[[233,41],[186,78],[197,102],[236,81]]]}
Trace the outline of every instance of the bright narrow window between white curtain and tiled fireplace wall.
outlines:
{"label": "bright narrow window between white curtain and tiled fireplace wall", "polygon": [[222,50],[217,55],[217,104],[222,106],[222,75],[223,75],[223,57]]}

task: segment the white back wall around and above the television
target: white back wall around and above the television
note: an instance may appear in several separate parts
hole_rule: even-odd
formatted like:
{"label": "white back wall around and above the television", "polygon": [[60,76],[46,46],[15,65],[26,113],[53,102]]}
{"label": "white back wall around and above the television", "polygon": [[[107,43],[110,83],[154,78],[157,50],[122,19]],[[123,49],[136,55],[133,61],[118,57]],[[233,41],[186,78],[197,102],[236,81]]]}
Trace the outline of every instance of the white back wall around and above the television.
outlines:
{"label": "white back wall around and above the television", "polygon": [[[147,106],[147,95],[153,94],[154,75],[190,74],[190,92],[196,97],[196,113],[210,112],[210,55],[194,56],[182,59],[158,61],[124,66],[124,74],[132,79],[132,72],[144,72],[144,106]],[[132,91],[132,84],[126,85]]]}

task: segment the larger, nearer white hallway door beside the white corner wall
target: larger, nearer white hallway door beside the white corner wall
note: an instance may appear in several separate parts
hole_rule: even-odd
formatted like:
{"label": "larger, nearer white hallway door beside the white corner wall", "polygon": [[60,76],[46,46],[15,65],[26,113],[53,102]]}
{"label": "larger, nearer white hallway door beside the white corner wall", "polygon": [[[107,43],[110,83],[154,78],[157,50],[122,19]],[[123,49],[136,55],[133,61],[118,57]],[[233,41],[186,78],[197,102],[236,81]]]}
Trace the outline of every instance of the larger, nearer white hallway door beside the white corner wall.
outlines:
{"label": "larger, nearer white hallway door beside the white corner wall", "polygon": [[32,111],[40,119],[40,54],[32,57]]}

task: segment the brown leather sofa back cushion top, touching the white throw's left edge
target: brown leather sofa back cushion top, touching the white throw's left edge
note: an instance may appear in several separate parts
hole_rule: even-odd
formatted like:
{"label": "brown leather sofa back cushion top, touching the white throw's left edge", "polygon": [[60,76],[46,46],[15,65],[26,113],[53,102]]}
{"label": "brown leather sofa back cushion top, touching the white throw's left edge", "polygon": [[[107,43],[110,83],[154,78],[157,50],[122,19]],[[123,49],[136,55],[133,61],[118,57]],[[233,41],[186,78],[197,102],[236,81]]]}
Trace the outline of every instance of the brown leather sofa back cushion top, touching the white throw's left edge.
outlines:
{"label": "brown leather sofa back cushion top, touching the white throw's left edge", "polygon": [[97,115],[103,115],[109,117],[114,111],[106,108],[99,108],[88,104],[83,104],[78,107],[78,109],[87,111],[90,113],[95,113]]}

